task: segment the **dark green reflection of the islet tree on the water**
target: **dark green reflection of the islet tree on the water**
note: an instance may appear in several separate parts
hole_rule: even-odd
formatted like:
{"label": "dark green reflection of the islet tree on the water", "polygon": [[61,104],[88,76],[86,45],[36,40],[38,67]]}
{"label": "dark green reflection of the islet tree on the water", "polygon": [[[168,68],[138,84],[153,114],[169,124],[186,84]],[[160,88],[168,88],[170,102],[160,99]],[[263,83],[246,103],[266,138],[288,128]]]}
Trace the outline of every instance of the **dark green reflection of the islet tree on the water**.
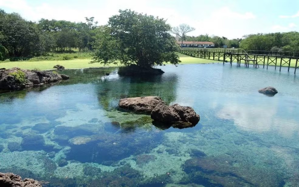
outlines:
{"label": "dark green reflection of the islet tree on the water", "polygon": [[167,104],[176,99],[177,75],[146,77],[119,77],[102,81],[96,88],[100,104],[106,109],[115,108],[119,99],[125,97],[159,96]]}

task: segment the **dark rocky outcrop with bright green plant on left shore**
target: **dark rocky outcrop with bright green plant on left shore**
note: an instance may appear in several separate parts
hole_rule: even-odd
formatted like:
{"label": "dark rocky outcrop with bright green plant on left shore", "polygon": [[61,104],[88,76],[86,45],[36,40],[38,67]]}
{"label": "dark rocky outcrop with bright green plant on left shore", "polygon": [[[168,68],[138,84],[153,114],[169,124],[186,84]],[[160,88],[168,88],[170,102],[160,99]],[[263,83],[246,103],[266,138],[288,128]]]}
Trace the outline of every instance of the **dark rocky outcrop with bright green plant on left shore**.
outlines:
{"label": "dark rocky outcrop with bright green plant on left shore", "polygon": [[55,83],[69,77],[64,74],[57,74],[51,71],[22,70],[20,68],[11,68],[0,70],[0,90],[20,90]]}

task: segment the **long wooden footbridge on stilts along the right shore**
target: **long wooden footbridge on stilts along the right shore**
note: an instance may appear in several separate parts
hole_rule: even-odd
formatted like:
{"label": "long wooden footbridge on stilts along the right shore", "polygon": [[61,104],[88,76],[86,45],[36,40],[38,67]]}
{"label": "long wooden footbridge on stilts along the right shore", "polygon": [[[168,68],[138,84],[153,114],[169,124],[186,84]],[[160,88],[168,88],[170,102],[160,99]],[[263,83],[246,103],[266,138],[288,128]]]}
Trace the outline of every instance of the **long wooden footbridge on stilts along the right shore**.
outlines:
{"label": "long wooden footbridge on stilts along the right shore", "polygon": [[[221,49],[222,50],[222,49]],[[225,62],[230,62],[232,66],[233,62],[237,63],[237,66],[241,66],[243,61],[246,67],[249,67],[250,64],[253,65],[255,68],[259,68],[259,66],[263,66],[263,68],[268,69],[268,66],[275,66],[275,70],[279,67],[279,71],[281,71],[281,67],[285,66],[288,68],[287,71],[290,71],[291,61],[295,61],[295,71],[296,73],[298,66],[298,59],[299,57],[294,56],[277,56],[277,55],[261,55],[261,54],[248,54],[246,51],[241,50],[223,50],[220,51],[219,49],[180,49],[180,53],[192,56],[195,58],[203,58],[203,59],[210,59],[210,60],[217,60]],[[278,64],[277,64],[278,63]]]}

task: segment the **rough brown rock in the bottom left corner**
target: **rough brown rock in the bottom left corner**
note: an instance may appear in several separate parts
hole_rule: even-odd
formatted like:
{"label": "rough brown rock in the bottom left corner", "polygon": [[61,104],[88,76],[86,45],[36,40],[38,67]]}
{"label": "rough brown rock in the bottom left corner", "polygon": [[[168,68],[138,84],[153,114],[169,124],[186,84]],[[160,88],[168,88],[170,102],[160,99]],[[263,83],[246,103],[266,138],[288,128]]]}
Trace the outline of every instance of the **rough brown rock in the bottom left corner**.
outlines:
{"label": "rough brown rock in the bottom left corner", "polygon": [[42,187],[40,182],[31,178],[22,178],[13,173],[0,173],[0,186],[3,187]]}

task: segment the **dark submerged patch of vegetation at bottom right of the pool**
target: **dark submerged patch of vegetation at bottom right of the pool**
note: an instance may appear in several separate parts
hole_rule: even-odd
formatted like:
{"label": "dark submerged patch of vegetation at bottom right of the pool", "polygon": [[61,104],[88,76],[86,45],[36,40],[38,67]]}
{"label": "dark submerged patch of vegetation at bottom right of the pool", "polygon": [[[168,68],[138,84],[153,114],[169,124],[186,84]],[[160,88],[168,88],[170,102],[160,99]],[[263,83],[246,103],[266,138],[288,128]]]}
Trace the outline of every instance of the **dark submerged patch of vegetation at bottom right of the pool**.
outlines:
{"label": "dark submerged patch of vegetation at bottom right of the pool", "polygon": [[285,183],[279,172],[253,166],[243,167],[242,163],[229,155],[191,158],[182,168],[187,173],[187,177],[181,181],[183,184],[194,182],[204,186],[280,187]]}

